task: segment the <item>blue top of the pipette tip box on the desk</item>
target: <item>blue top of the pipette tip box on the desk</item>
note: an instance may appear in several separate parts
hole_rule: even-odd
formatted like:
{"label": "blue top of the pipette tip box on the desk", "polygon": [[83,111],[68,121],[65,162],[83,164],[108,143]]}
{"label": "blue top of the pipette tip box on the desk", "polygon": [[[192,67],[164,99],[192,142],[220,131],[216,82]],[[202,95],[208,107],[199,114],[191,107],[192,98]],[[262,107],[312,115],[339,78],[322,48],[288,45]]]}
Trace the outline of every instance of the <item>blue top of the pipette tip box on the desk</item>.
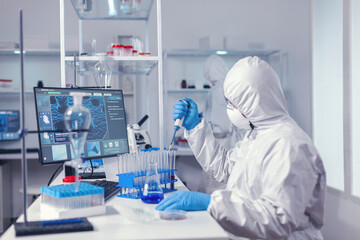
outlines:
{"label": "blue top of the pipette tip box on the desk", "polygon": [[80,183],[79,191],[75,191],[75,184],[56,185],[42,187],[41,193],[45,193],[55,198],[79,197],[86,195],[104,194],[104,188],[88,183]]}

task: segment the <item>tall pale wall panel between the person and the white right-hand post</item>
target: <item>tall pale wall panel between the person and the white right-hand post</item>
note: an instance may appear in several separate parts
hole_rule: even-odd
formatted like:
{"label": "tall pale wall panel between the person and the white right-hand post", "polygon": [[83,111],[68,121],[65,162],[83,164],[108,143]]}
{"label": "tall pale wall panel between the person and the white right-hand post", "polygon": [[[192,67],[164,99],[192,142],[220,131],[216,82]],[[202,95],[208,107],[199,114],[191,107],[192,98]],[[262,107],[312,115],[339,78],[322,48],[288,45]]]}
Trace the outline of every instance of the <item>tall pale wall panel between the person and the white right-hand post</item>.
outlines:
{"label": "tall pale wall panel between the person and the white right-hand post", "polygon": [[[314,1],[313,137],[328,186],[344,190],[342,1]],[[329,129],[332,129],[329,131]]]}

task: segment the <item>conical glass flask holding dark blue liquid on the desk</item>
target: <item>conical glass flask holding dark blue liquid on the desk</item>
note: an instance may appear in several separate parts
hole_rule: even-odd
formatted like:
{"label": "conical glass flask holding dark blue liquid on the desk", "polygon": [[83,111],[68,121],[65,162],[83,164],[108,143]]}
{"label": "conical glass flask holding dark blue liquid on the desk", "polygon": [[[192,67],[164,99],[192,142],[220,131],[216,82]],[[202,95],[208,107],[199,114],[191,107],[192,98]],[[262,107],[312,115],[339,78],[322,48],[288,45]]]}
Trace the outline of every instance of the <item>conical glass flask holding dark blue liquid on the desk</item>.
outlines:
{"label": "conical glass flask holding dark blue liquid on the desk", "polygon": [[146,179],[144,190],[141,194],[141,200],[144,203],[159,203],[164,199],[164,193],[161,188],[159,174],[157,172],[157,163],[150,161],[146,170]]}

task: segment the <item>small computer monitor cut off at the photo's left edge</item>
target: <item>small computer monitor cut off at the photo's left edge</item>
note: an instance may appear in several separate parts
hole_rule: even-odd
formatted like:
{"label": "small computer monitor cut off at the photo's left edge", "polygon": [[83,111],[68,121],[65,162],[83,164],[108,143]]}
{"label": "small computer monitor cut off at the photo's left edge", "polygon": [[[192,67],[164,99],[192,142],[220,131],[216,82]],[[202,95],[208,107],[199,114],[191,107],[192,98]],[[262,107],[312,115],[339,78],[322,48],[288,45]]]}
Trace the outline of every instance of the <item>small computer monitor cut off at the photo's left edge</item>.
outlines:
{"label": "small computer monitor cut off at the photo's left edge", "polygon": [[19,140],[19,128],[19,111],[0,110],[0,141]]}

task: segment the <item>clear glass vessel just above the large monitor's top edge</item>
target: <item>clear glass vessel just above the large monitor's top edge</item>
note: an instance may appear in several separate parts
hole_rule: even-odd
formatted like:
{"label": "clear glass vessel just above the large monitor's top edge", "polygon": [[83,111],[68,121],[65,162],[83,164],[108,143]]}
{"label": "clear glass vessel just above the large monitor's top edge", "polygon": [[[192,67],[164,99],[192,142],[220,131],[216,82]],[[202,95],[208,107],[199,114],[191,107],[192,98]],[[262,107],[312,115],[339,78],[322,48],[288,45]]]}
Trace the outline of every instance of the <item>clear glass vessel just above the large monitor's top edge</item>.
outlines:
{"label": "clear glass vessel just above the large monitor's top edge", "polygon": [[112,71],[110,66],[105,62],[105,55],[105,53],[97,54],[97,56],[100,56],[100,59],[94,67],[94,78],[97,87],[107,89],[111,86]]}

